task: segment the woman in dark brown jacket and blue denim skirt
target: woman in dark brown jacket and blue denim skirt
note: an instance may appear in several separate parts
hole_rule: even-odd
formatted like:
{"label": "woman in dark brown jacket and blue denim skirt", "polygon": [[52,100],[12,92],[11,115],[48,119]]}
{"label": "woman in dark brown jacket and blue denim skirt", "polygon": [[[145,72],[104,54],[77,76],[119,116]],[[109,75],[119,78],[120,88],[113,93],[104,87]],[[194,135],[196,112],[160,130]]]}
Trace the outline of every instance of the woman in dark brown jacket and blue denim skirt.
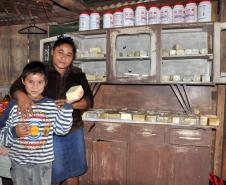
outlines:
{"label": "woman in dark brown jacket and blue denim skirt", "polygon": [[[60,36],[56,40],[52,51],[52,63],[47,66],[48,85],[44,96],[56,100],[58,106],[66,101],[66,91],[75,85],[81,85],[84,95],[79,101],[73,102],[73,126],[66,136],[54,135],[54,155],[52,184],[78,185],[78,176],[87,170],[83,122],[81,114],[92,107],[93,95],[85,74],[81,69],[73,67],[76,48],[70,37]],[[24,93],[23,85],[18,78],[10,89],[25,114],[31,110],[32,100]]]}

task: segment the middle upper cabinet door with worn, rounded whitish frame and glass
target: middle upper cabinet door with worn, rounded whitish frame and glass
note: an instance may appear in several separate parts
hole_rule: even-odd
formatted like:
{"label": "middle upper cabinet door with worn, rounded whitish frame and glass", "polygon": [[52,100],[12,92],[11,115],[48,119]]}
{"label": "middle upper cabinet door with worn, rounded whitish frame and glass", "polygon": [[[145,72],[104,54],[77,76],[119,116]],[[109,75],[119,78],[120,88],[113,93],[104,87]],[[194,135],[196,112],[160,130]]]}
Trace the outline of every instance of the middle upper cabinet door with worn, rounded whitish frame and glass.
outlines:
{"label": "middle upper cabinet door with worn, rounded whitish frame and glass", "polygon": [[160,27],[110,30],[110,81],[157,82]]}

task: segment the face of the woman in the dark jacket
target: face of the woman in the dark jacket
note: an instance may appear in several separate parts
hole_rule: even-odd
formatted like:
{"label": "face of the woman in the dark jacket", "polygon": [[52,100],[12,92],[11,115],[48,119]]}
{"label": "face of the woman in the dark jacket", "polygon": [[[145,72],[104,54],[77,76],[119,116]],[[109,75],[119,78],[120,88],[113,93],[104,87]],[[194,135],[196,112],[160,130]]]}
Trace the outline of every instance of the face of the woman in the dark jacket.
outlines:
{"label": "face of the woman in the dark jacket", "polygon": [[69,44],[61,44],[53,50],[53,66],[60,73],[71,65],[74,57],[73,49]]}

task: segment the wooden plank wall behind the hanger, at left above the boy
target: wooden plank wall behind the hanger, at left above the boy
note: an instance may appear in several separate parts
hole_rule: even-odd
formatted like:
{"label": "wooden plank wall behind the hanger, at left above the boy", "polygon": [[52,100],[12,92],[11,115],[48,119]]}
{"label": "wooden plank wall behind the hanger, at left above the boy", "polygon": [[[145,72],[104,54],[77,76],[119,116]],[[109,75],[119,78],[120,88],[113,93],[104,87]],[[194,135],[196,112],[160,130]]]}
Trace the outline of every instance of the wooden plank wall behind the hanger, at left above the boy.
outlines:
{"label": "wooden plank wall behind the hanger, at left above the boy", "polygon": [[[39,41],[47,34],[19,34],[27,25],[0,27],[0,86],[10,85],[21,73],[24,65],[39,60]],[[37,25],[47,29],[47,24]]]}

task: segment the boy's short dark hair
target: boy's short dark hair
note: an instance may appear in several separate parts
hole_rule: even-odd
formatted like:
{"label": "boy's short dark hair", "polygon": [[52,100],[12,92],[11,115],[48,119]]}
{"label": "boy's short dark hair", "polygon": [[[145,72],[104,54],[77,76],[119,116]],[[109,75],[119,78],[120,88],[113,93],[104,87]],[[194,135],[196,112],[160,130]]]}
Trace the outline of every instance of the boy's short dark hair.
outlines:
{"label": "boy's short dark hair", "polygon": [[23,72],[21,74],[21,78],[22,78],[22,80],[25,80],[25,78],[29,74],[37,74],[37,73],[44,75],[45,81],[47,82],[48,74],[47,74],[47,71],[46,71],[46,67],[40,61],[31,61],[30,63],[28,63],[23,69]]}

